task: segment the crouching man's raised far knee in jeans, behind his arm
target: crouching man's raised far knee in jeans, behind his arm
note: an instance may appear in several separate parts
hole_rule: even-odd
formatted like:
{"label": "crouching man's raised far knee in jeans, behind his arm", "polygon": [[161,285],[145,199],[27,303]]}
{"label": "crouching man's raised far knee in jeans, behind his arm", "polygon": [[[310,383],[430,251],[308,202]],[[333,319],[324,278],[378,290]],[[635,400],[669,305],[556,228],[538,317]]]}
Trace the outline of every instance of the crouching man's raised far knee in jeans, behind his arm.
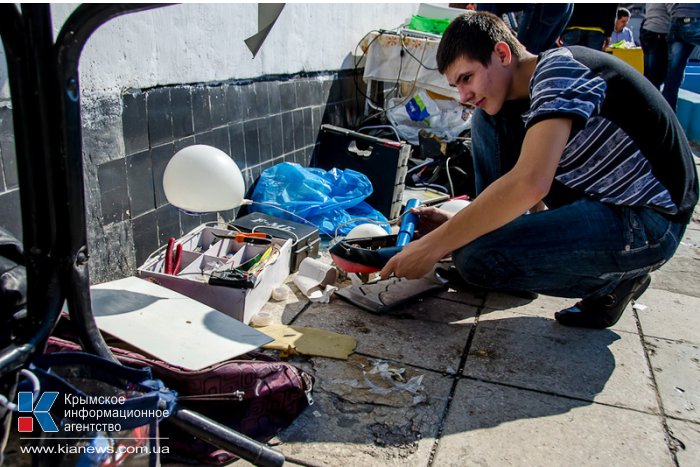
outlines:
{"label": "crouching man's raised far knee in jeans, behind his arm", "polygon": [[525,138],[522,115],[529,101],[506,102],[496,115],[477,109],[472,116],[472,156],[477,196],[513,168]]}

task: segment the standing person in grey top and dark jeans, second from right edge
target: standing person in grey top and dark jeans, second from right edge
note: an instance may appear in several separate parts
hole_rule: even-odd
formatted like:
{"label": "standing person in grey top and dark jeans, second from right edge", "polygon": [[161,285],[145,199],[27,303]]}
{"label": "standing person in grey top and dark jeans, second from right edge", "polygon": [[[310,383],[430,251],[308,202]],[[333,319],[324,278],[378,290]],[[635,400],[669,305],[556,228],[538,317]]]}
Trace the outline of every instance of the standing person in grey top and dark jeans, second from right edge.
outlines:
{"label": "standing person in grey top and dark jeans, second from right edge", "polygon": [[644,76],[661,89],[668,66],[666,36],[671,27],[670,3],[647,3],[644,21],[639,31],[639,42],[644,52]]}

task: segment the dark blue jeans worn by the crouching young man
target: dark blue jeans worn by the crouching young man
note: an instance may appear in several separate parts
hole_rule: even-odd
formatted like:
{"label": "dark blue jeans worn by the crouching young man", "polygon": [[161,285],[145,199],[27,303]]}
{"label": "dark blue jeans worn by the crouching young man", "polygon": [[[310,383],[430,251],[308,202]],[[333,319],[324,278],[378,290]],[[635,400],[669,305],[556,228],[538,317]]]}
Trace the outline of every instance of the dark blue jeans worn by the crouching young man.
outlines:
{"label": "dark blue jeans worn by the crouching young man", "polygon": [[[517,160],[522,139],[502,138],[524,135],[522,119],[513,119],[522,105],[493,117],[481,110],[474,115],[477,196]],[[496,290],[596,298],[659,268],[685,231],[651,209],[601,203],[556,181],[545,202],[547,211],[522,215],[453,252],[464,280]]]}

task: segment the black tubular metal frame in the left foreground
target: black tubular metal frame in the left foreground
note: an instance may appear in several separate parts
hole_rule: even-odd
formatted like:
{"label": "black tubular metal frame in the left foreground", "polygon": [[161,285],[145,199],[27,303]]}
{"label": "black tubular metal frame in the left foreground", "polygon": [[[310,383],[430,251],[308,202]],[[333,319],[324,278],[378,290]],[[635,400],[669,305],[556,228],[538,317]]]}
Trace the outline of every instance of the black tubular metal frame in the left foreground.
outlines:
{"label": "black tubular metal frame in the left foreground", "polygon": [[[83,349],[116,361],[91,308],[78,63],[83,46],[100,26],[162,6],[80,5],[54,40],[49,4],[0,5],[27,273],[26,310],[14,314],[7,321],[12,328],[0,333],[0,394],[9,400],[20,371],[42,354],[64,302]],[[4,411],[0,406],[0,420]],[[256,465],[284,463],[277,451],[196,412],[176,407],[166,420]]]}

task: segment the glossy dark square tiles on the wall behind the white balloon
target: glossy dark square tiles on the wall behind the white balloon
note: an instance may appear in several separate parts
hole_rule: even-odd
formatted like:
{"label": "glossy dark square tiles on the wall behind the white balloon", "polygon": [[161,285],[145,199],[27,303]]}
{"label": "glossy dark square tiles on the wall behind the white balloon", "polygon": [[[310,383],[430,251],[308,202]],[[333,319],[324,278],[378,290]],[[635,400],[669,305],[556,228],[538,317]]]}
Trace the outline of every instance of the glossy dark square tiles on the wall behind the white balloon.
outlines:
{"label": "glossy dark square tiles on the wall behind the white balloon", "polygon": [[[131,220],[135,264],[142,264],[169,237],[216,218],[189,216],[168,204],[162,178],[175,152],[191,144],[221,149],[236,161],[250,191],[274,164],[308,165],[321,123],[356,126],[362,93],[350,72],[125,93],[126,155],[97,168],[104,225]],[[222,215],[230,219],[234,213]]]}

